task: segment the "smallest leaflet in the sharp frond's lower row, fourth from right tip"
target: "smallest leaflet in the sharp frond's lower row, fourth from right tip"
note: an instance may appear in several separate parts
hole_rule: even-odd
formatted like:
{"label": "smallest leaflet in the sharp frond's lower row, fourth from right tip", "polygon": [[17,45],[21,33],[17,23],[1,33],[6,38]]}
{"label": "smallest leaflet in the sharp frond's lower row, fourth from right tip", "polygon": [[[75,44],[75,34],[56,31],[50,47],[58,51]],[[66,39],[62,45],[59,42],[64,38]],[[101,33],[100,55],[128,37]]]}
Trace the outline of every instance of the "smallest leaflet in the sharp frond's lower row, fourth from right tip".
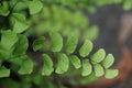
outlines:
{"label": "smallest leaflet in the sharp frond's lower row, fourth from right tip", "polygon": [[76,55],[70,56],[70,62],[75,66],[75,68],[78,69],[81,67],[80,59]]}

